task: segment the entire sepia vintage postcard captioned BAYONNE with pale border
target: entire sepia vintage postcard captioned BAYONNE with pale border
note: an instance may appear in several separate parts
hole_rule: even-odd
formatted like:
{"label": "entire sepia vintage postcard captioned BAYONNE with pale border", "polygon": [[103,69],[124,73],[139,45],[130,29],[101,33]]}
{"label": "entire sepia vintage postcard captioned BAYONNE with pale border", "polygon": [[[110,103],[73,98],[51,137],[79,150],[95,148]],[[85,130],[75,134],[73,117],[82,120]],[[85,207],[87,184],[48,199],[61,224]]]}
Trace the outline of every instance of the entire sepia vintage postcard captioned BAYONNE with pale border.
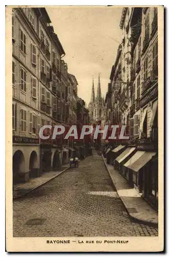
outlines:
{"label": "entire sepia vintage postcard captioned BAYONNE with pale border", "polygon": [[6,7],[6,249],[164,249],[163,6]]}

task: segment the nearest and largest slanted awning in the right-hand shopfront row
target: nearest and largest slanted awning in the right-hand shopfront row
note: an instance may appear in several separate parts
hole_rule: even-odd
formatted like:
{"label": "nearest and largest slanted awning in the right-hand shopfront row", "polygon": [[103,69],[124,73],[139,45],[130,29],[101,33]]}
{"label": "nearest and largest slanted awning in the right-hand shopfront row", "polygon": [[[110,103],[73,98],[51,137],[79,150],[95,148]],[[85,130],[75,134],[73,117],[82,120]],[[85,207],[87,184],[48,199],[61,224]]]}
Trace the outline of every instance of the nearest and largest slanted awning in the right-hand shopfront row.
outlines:
{"label": "nearest and largest slanted awning in the right-hand shopfront row", "polygon": [[145,152],[131,165],[131,169],[136,172],[139,171],[154,155],[156,155],[156,152]]}

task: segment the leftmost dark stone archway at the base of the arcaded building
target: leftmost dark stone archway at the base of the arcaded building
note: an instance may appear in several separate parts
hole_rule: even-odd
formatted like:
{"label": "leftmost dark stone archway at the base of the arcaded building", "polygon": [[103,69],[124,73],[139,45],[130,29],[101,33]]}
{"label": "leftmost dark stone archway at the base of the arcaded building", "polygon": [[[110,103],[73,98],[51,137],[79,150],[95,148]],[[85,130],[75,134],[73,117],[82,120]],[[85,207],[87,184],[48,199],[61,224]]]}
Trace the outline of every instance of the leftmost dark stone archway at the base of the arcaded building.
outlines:
{"label": "leftmost dark stone archway at the base of the arcaded building", "polygon": [[22,151],[17,150],[12,161],[13,184],[23,182],[22,173],[25,172],[25,158]]}

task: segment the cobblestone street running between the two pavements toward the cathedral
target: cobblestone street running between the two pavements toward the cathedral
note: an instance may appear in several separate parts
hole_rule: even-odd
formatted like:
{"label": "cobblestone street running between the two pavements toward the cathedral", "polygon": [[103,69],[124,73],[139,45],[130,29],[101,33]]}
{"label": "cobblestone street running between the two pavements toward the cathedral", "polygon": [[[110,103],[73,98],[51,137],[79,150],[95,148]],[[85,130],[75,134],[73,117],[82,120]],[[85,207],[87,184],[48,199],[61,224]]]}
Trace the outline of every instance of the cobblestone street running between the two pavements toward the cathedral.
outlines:
{"label": "cobblestone street running between the two pavements toward the cathedral", "polygon": [[157,228],[131,221],[95,152],[13,202],[13,236],[157,235]]}

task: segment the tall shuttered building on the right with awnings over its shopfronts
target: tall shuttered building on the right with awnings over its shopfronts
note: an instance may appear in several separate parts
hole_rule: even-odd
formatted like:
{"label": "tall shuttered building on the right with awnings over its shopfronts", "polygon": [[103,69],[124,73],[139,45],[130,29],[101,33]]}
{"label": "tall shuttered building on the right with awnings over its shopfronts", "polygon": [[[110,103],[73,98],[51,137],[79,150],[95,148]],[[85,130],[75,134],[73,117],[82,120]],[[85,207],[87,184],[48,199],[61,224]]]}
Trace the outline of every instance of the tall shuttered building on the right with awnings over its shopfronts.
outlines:
{"label": "tall shuttered building on the right with awnings over its shopfronts", "polygon": [[[154,7],[122,9],[122,43],[105,99],[107,120],[129,127],[128,147],[113,163],[155,209],[158,208],[157,15]],[[121,72],[116,76],[119,55]]]}

